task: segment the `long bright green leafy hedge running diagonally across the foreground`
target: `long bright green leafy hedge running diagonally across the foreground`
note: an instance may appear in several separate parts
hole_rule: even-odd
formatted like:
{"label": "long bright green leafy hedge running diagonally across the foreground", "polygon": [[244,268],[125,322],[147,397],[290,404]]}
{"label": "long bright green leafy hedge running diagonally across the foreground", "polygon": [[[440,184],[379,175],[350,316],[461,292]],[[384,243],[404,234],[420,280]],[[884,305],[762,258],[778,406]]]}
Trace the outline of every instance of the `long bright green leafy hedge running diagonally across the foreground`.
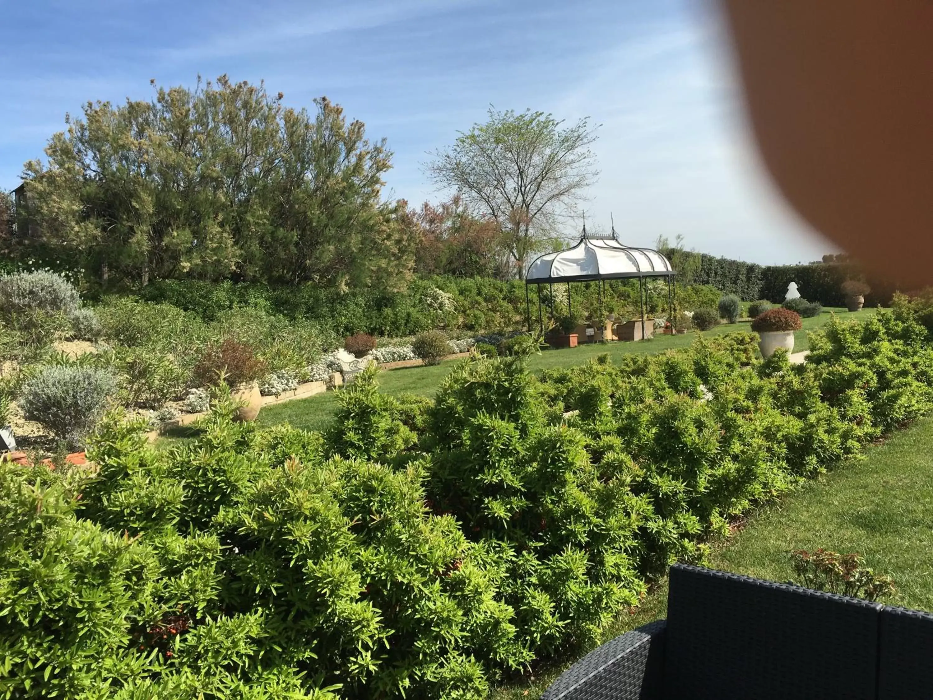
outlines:
{"label": "long bright green leafy hedge running diagonally across the foreground", "polygon": [[832,321],[801,366],[736,334],[541,378],[471,358],[434,401],[369,371],[325,435],[236,424],[221,399],[157,451],[110,416],[94,475],[0,465],[0,693],[485,697],[928,413],[930,368],[898,306]]}

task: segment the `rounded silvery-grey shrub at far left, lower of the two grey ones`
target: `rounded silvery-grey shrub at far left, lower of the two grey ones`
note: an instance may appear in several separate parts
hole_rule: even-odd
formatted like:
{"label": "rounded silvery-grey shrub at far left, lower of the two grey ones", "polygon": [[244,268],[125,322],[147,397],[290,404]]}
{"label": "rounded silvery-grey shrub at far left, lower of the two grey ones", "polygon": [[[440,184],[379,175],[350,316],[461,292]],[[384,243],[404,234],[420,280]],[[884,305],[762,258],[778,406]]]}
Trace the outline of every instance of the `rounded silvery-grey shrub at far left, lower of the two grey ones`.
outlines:
{"label": "rounded silvery-grey shrub at far left, lower of the two grey ones", "polygon": [[20,405],[27,419],[48,427],[69,447],[77,447],[104,413],[117,384],[104,370],[50,366],[22,387]]}

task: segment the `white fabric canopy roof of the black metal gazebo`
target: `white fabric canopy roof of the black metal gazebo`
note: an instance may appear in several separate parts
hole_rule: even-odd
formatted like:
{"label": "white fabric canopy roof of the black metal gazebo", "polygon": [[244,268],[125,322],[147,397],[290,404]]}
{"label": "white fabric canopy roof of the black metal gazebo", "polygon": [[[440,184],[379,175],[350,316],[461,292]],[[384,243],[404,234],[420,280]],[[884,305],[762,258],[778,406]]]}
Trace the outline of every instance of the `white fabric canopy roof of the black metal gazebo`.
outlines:
{"label": "white fabric canopy roof of the black metal gazebo", "polygon": [[577,245],[536,259],[528,268],[525,282],[540,285],[673,274],[670,261],[657,250],[622,245],[615,230],[609,236],[595,236],[584,227]]}

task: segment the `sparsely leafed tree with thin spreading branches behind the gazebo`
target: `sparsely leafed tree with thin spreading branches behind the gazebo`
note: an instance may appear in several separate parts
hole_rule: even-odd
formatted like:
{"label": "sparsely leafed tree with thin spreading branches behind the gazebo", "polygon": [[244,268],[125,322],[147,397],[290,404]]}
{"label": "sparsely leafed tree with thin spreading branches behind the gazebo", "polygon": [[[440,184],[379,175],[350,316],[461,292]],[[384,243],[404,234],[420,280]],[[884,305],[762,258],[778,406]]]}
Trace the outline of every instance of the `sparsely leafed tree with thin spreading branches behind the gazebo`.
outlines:
{"label": "sparsely leafed tree with thin spreading branches behind the gazebo", "polygon": [[460,192],[478,215],[495,219],[523,276],[529,256],[547,247],[599,175],[590,150],[597,128],[589,119],[564,127],[543,112],[490,107],[489,120],[435,153],[427,173]]}

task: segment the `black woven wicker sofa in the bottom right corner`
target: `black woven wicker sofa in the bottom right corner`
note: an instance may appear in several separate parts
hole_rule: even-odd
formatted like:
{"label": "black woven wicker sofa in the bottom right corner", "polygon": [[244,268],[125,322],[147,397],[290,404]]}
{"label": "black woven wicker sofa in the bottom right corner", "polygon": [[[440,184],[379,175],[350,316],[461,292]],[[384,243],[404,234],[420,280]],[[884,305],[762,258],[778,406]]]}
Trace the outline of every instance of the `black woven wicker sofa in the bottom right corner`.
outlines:
{"label": "black woven wicker sofa in the bottom right corner", "polygon": [[667,619],[607,642],[542,700],[933,698],[933,615],[671,567]]}

